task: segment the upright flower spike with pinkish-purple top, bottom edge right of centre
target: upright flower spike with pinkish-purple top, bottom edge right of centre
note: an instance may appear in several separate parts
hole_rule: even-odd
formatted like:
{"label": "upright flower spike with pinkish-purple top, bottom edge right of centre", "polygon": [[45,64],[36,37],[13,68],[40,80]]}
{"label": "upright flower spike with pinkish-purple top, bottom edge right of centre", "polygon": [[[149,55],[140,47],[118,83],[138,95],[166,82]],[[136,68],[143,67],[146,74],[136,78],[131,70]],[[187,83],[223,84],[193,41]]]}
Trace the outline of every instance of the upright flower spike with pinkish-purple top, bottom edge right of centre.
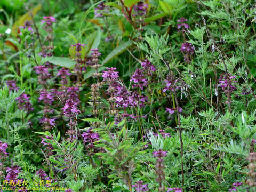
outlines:
{"label": "upright flower spike with pinkish-purple top, bottom edge right of centre", "polygon": [[163,157],[167,156],[167,151],[163,151],[162,149],[159,149],[158,151],[154,151],[153,157],[157,157],[156,160],[156,181],[159,183],[158,192],[165,191],[164,186],[162,185],[162,182],[165,180],[164,176],[164,159]]}

